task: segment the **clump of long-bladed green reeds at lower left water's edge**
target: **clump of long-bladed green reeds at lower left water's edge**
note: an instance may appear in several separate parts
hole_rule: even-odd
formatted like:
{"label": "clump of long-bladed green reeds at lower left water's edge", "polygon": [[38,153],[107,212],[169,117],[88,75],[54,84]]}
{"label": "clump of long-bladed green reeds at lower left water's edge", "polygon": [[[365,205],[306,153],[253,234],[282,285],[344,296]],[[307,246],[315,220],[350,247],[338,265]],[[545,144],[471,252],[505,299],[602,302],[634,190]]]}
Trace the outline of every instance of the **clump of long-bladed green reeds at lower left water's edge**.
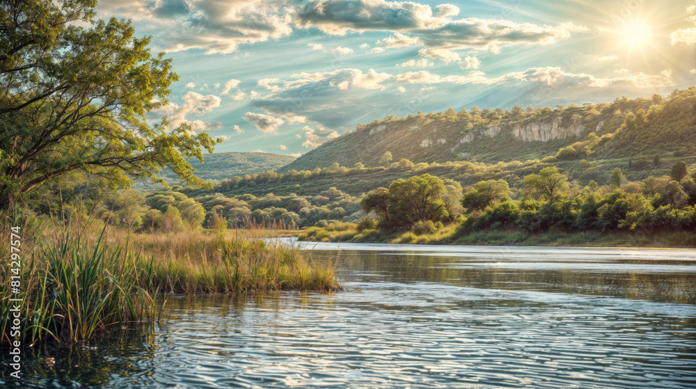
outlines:
{"label": "clump of long-bladed green reeds at lower left water's edge", "polygon": [[[22,261],[20,327],[25,341],[85,340],[118,323],[153,321],[158,315],[159,289],[141,282],[139,256],[107,244],[103,230],[95,239],[67,232],[63,239],[25,253]],[[10,278],[8,267],[0,274]],[[5,284],[0,286],[0,335],[10,340],[9,299],[17,296]]]}

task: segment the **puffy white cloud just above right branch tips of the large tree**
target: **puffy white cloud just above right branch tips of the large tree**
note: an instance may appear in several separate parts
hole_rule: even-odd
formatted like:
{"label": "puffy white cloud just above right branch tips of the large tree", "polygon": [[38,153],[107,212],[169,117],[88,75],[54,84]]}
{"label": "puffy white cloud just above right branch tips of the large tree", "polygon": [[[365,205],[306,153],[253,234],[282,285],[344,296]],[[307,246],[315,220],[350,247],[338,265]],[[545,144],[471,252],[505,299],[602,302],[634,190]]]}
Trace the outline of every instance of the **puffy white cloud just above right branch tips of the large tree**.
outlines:
{"label": "puffy white cloud just above right branch tips of the large tree", "polygon": [[187,119],[189,115],[200,116],[216,109],[220,106],[220,102],[222,101],[220,97],[216,95],[204,96],[189,90],[181,100],[184,101],[182,104],[170,102],[166,106],[155,109],[148,116],[150,118],[163,115],[167,116],[167,120],[169,120],[168,130],[175,129],[184,122],[191,126],[191,131],[194,133],[222,128],[221,122],[205,122],[203,120]]}

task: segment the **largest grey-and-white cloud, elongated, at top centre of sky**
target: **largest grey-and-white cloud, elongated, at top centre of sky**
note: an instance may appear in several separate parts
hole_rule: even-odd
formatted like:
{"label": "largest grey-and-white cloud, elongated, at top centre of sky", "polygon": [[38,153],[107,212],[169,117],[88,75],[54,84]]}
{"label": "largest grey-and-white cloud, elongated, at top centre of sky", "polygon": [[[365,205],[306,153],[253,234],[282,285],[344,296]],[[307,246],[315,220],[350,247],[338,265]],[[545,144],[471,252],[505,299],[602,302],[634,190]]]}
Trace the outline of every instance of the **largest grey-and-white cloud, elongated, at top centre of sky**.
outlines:
{"label": "largest grey-and-white cloud, elongated, at top centre of sky", "polygon": [[[459,15],[459,8],[452,4],[440,4],[433,10],[430,6],[411,1],[347,3],[344,0],[322,0],[297,7],[294,21],[298,26],[314,26],[331,35],[393,32],[393,37],[380,41],[386,47],[422,44],[432,49],[475,49],[494,53],[501,47],[512,45],[551,45],[569,38],[571,33],[588,31],[586,27],[571,22],[541,26],[503,19],[452,19],[455,15]],[[437,51],[425,51],[425,54],[433,54],[432,58],[439,59]],[[451,58],[452,54],[446,57]]]}

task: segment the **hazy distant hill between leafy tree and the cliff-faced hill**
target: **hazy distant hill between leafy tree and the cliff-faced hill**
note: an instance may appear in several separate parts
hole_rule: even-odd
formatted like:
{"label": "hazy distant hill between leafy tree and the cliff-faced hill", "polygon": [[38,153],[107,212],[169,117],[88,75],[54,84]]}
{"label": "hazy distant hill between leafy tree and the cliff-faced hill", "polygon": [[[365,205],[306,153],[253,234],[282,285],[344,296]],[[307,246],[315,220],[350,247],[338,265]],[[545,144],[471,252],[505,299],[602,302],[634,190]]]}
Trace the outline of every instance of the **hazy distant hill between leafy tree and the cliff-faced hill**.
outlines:
{"label": "hazy distant hill between leafy tree and the cliff-faced hill", "polygon": [[[198,170],[196,177],[207,181],[219,181],[235,175],[262,173],[267,170],[277,170],[290,164],[296,157],[290,155],[270,154],[267,152],[216,152],[203,154],[203,164],[198,159],[189,161]],[[179,182],[171,170],[163,170],[162,175],[167,182]]]}

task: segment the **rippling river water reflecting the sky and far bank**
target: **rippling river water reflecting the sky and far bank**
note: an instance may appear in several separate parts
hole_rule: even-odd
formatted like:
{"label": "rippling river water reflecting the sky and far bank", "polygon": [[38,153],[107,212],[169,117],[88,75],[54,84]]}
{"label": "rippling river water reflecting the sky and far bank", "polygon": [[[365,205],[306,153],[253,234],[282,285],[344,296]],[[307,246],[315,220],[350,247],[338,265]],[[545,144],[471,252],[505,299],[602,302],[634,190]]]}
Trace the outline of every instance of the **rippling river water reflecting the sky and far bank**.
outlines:
{"label": "rippling river water reflecting the sky and far bank", "polygon": [[21,386],[696,387],[696,251],[303,247],[347,292],[170,297],[155,331],[25,351]]}

